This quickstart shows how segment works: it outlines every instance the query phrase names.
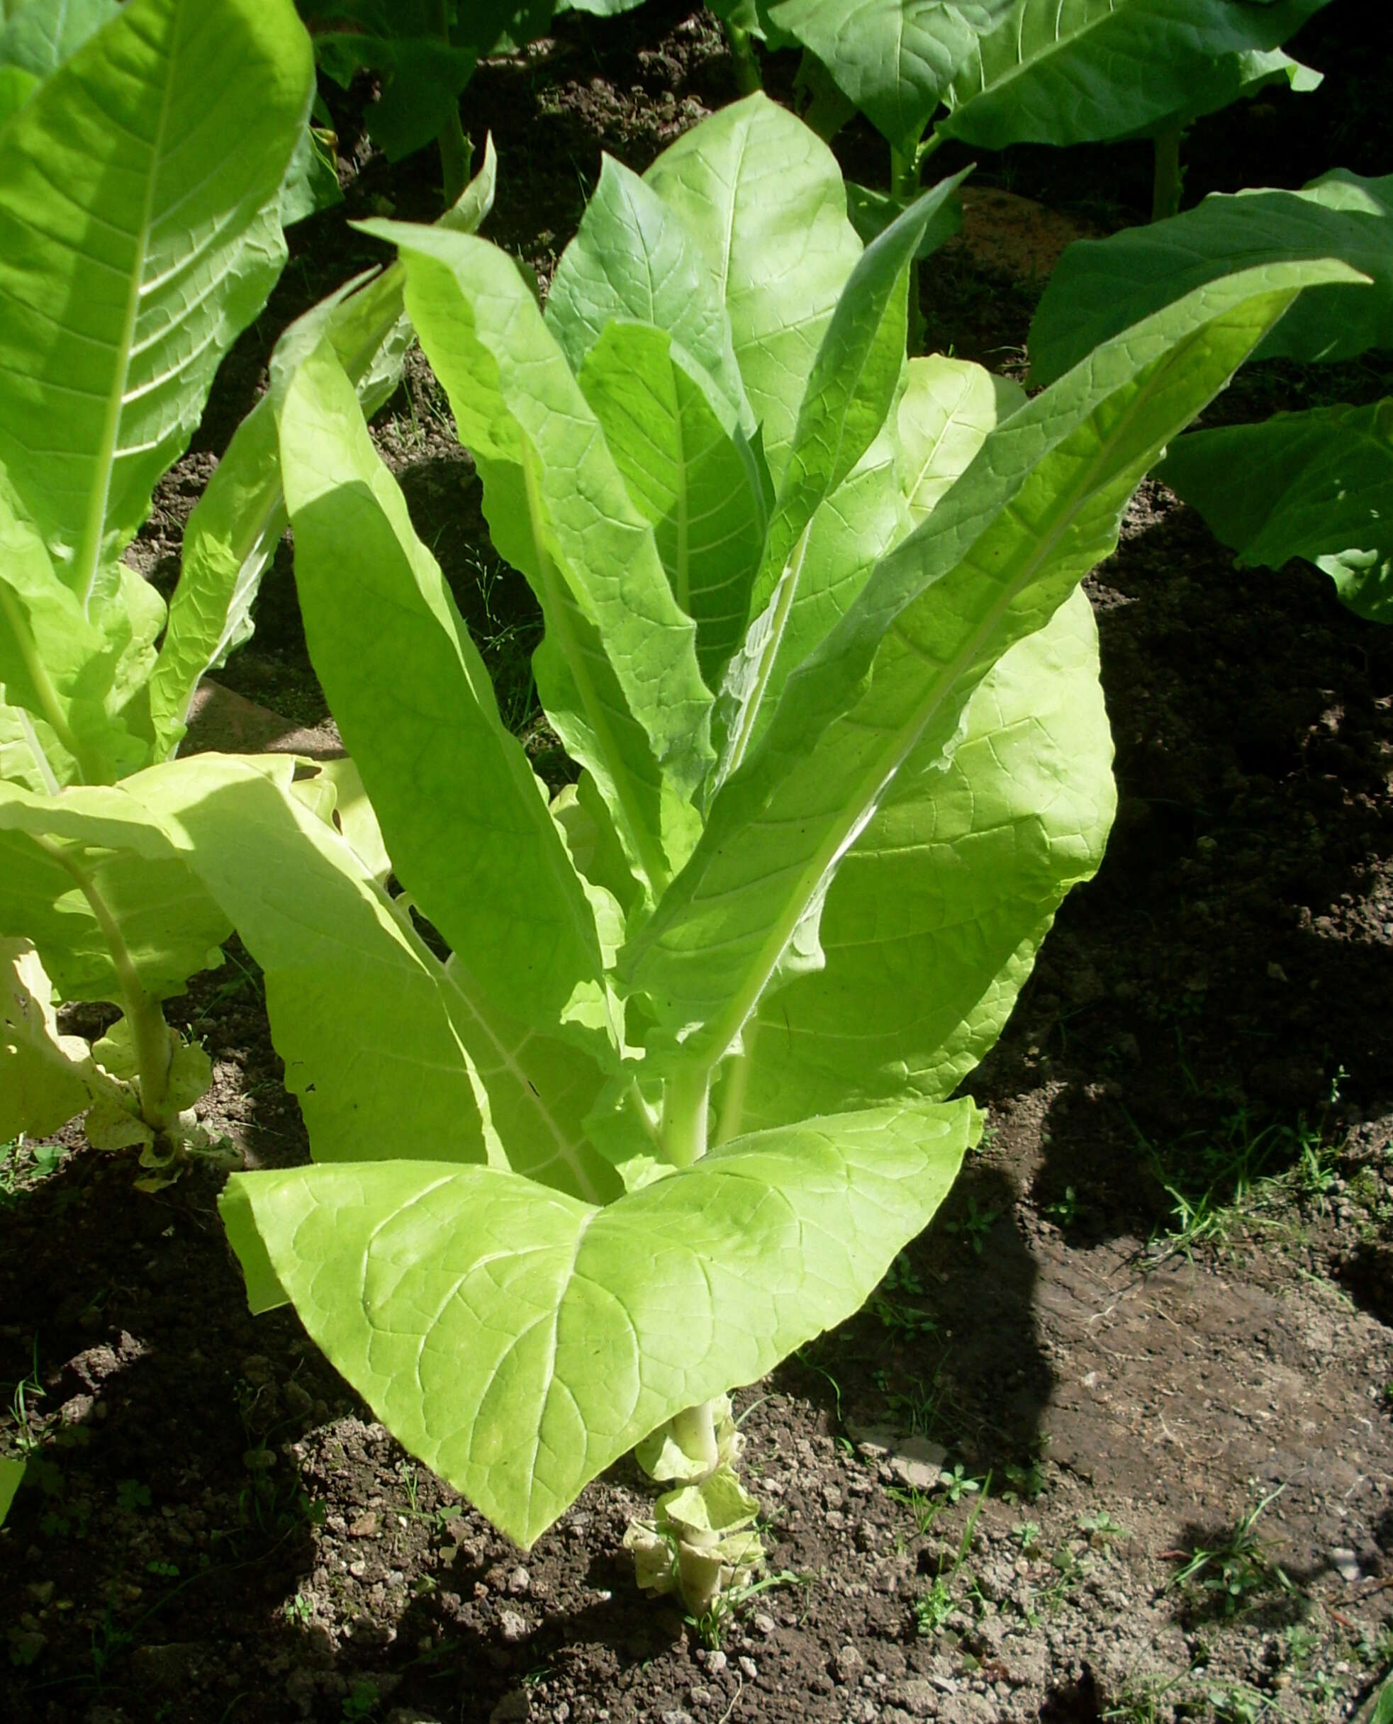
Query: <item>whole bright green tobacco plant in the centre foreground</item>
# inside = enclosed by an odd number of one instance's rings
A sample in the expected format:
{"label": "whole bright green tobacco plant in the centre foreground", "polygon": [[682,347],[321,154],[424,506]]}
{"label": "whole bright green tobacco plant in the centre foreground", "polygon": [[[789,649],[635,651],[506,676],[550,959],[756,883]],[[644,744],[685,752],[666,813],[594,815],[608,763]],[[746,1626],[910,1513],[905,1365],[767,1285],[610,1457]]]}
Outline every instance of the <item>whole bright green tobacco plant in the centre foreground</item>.
{"label": "whole bright green tobacco plant in the centre foreground", "polygon": [[[238,1174],[252,1303],[531,1545],[638,1445],[693,1608],[759,1560],[724,1396],[850,1315],[978,1136],[950,1100],[1112,745],[1083,576],[1303,284],[1215,281],[1031,402],[905,362],[952,186],[862,250],[752,97],[605,164],[545,315],[503,252],[372,222],[541,605],[552,793],[317,347],[279,402],[309,648],[371,807],[291,760],[122,784],[265,972],[314,1165]],[[441,955],[448,953],[448,955]]]}

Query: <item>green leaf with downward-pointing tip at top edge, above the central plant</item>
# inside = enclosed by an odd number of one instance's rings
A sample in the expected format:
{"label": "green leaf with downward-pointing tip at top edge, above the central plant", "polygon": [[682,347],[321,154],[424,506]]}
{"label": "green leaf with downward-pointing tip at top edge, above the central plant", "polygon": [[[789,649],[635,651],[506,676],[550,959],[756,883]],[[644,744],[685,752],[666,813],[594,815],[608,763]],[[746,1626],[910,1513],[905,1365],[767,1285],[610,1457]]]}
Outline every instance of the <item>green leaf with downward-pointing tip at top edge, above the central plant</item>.
{"label": "green leaf with downward-pointing tip at top edge, above the central plant", "polygon": [[781,29],[828,67],[893,150],[912,155],[959,67],[1012,0],[783,0]]}

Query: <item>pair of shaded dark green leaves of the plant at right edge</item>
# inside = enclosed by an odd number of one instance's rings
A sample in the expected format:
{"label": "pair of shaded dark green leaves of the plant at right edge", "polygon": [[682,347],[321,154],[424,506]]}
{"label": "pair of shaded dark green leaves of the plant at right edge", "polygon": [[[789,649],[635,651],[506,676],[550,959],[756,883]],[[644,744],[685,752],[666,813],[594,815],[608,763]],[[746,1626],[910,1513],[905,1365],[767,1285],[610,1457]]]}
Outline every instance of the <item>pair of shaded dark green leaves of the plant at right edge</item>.
{"label": "pair of shaded dark green leaves of the plant at right edge", "polygon": [[[1210,197],[1174,221],[1071,247],[1031,328],[1036,381],[1202,281],[1234,269],[1341,257],[1372,283],[1302,297],[1259,359],[1321,364],[1393,347],[1393,178],[1336,169],[1303,191]],[[1157,467],[1245,565],[1305,557],[1341,600],[1393,622],[1393,397],[1191,431]]]}

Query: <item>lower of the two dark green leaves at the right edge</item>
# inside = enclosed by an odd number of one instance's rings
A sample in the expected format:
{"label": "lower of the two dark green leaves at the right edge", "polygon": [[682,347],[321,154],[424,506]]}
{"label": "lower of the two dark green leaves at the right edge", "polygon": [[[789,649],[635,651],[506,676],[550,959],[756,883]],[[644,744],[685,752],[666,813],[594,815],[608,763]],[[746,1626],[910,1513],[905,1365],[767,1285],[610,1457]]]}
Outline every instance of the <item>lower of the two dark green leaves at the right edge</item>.
{"label": "lower of the two dark green leaves at the right edge", "polygon": [[1157,476],[1241,565],[1305,557],[1352,610],[1393,622],[1393,400],[1195,431]]}

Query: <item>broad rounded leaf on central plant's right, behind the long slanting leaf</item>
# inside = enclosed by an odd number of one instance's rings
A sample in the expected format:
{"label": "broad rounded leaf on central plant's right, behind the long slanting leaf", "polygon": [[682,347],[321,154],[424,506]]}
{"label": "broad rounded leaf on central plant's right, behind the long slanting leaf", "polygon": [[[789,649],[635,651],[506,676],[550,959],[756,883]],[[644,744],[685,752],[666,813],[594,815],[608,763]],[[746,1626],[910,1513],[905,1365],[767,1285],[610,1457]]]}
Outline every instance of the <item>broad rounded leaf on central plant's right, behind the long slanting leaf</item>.
{"label": "broad rounded leaf on central plant's right, behind the long slanting leaf", "polygon": [[731,1069],[741,1129],[950,1095],[1002,1033],[1114,812],[1098,634],[1083,593],[978,688],[945,767],[910,753],[838,869],[826,969],[765,998]]}

